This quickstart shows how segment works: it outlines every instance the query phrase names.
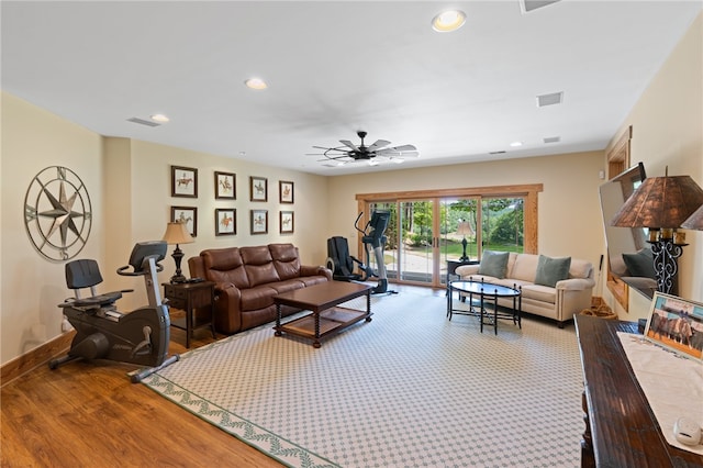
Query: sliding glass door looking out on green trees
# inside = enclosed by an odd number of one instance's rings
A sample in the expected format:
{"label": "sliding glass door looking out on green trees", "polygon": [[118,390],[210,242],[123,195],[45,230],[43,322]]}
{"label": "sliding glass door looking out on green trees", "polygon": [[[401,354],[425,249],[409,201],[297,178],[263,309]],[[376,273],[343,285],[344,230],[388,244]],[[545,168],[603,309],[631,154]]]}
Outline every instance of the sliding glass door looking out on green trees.
{"label": "sliding glass door looking out on green trees", "polygon": [[[478,261],[486,249],[529,252],[536,246],[536,219],[525,223],[525,205],[535,207],[536,197],[469,194],[420,199],[367,201],[360,207],[369,220],[375,210],[391,213],[386,230],[383,263],[390,282],[442,287],[448,263]],[[526,236],[525,226],[528,226]],[[364,248],[362,245],[360,245]],[[373,253],[364,261],[379,271]]]}

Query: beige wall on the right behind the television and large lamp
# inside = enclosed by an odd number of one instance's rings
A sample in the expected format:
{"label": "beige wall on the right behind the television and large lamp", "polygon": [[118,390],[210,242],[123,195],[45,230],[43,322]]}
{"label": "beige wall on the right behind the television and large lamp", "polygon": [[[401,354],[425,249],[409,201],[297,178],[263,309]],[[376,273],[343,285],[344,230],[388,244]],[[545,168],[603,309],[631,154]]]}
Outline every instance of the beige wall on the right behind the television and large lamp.
{"label": "beige wall on the right behind the television and large lamp", "polygon": [[[688,175],[703,187],[703,13],[614,137],[628,125],[633,125],[632,163],[641,160],[647,176],[663,177],[668,167],[670,176]],[[703,302],[703,232],[687,231],[687,242],[679,263],[679,296]],[[649,300],[633,291],[629,298],[629,312],[617,308],[621,319],[647,316]]]}

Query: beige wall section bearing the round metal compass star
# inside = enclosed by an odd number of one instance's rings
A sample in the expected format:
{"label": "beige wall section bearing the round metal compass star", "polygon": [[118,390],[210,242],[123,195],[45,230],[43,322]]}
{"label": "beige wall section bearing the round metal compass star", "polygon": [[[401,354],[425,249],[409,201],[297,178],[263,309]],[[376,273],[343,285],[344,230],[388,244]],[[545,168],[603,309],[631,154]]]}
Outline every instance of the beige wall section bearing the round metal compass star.
{"label": "beige wall section bearing the round metal compass star", "polygon": [[1,358],[26,353],[60,333],[56,307],[66,297],[64,263],[40,256],[24,227],[24,196],[47,166],[65,166],[83,181],[93,210],[90,242],[81,257],[101,258],[101,137],[10,94],[2,94]]}

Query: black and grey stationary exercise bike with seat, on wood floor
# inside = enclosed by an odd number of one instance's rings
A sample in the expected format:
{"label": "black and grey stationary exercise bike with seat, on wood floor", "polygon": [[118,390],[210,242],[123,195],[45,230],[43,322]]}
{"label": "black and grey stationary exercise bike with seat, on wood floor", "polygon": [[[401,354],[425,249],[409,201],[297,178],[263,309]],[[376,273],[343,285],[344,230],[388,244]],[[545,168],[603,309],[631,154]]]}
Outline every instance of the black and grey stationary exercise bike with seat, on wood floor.
{"label": "black and grey stationary exercise bike with seat, on wood floor", "polygon": [[[51,369],[76,359],[108,359],[148,366],[131,372],[132,382],[177,361],[178,355],[167,358],[170,339],[168,307],[161,302],[157,272],[164,267],[158,263],[166,255],[164,241],[137,243],[132,249],[129,265],[120,267],[118,275],[143,276],[149,304],[130,313],[116,310],[114,302],[123,292],[96,294],[96,285],[102,282],[98,263],[91,259],[66,264],[66,286],[76,297],[58,304],[76,328],[68,354],[48,363]],[[132,268],[131,271],[129,269]],[[81,288],[90,288],[91,297],[81,299]]]}

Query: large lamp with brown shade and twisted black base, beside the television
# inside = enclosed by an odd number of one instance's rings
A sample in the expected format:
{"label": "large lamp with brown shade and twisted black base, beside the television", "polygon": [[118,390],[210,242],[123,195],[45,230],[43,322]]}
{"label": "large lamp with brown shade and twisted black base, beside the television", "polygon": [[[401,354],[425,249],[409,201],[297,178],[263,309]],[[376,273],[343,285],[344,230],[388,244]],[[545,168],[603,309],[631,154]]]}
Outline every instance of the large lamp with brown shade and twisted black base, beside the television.
{"label": "large lamp with brown shade and twisted black base, beside the television", "polygon": [[[647,227],[655,256],[657,289],[670,293],[678,272],[678,258],[685,246],[689,216],[703,204],[703,189],[689,176],[648,177],[615,213],[612,226]],[[699,210],[700,211],[700,210]]]}

